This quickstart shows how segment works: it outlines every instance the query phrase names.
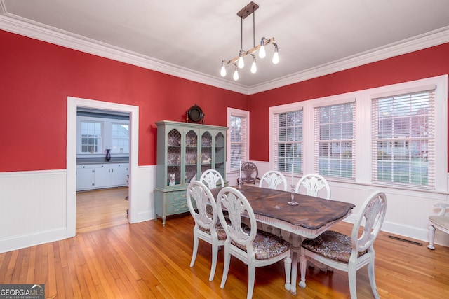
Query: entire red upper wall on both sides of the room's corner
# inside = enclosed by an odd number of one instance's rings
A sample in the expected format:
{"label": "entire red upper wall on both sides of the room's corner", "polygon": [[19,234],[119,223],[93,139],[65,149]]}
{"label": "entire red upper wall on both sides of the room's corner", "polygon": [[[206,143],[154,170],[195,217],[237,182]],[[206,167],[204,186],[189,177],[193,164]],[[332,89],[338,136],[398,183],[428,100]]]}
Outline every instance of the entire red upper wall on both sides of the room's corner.
{"label": "entire red upper wall on both sides of the room's corner", "polygon": [[256,95],[214,88],[0,30],[0,172],[65,169],[67,97],[139,106],[139,165],[156,163],[157,120],[198,104],[209,125],[250,111],[250,160],[269,159],[269,107],[449,74],[449,43]]}

